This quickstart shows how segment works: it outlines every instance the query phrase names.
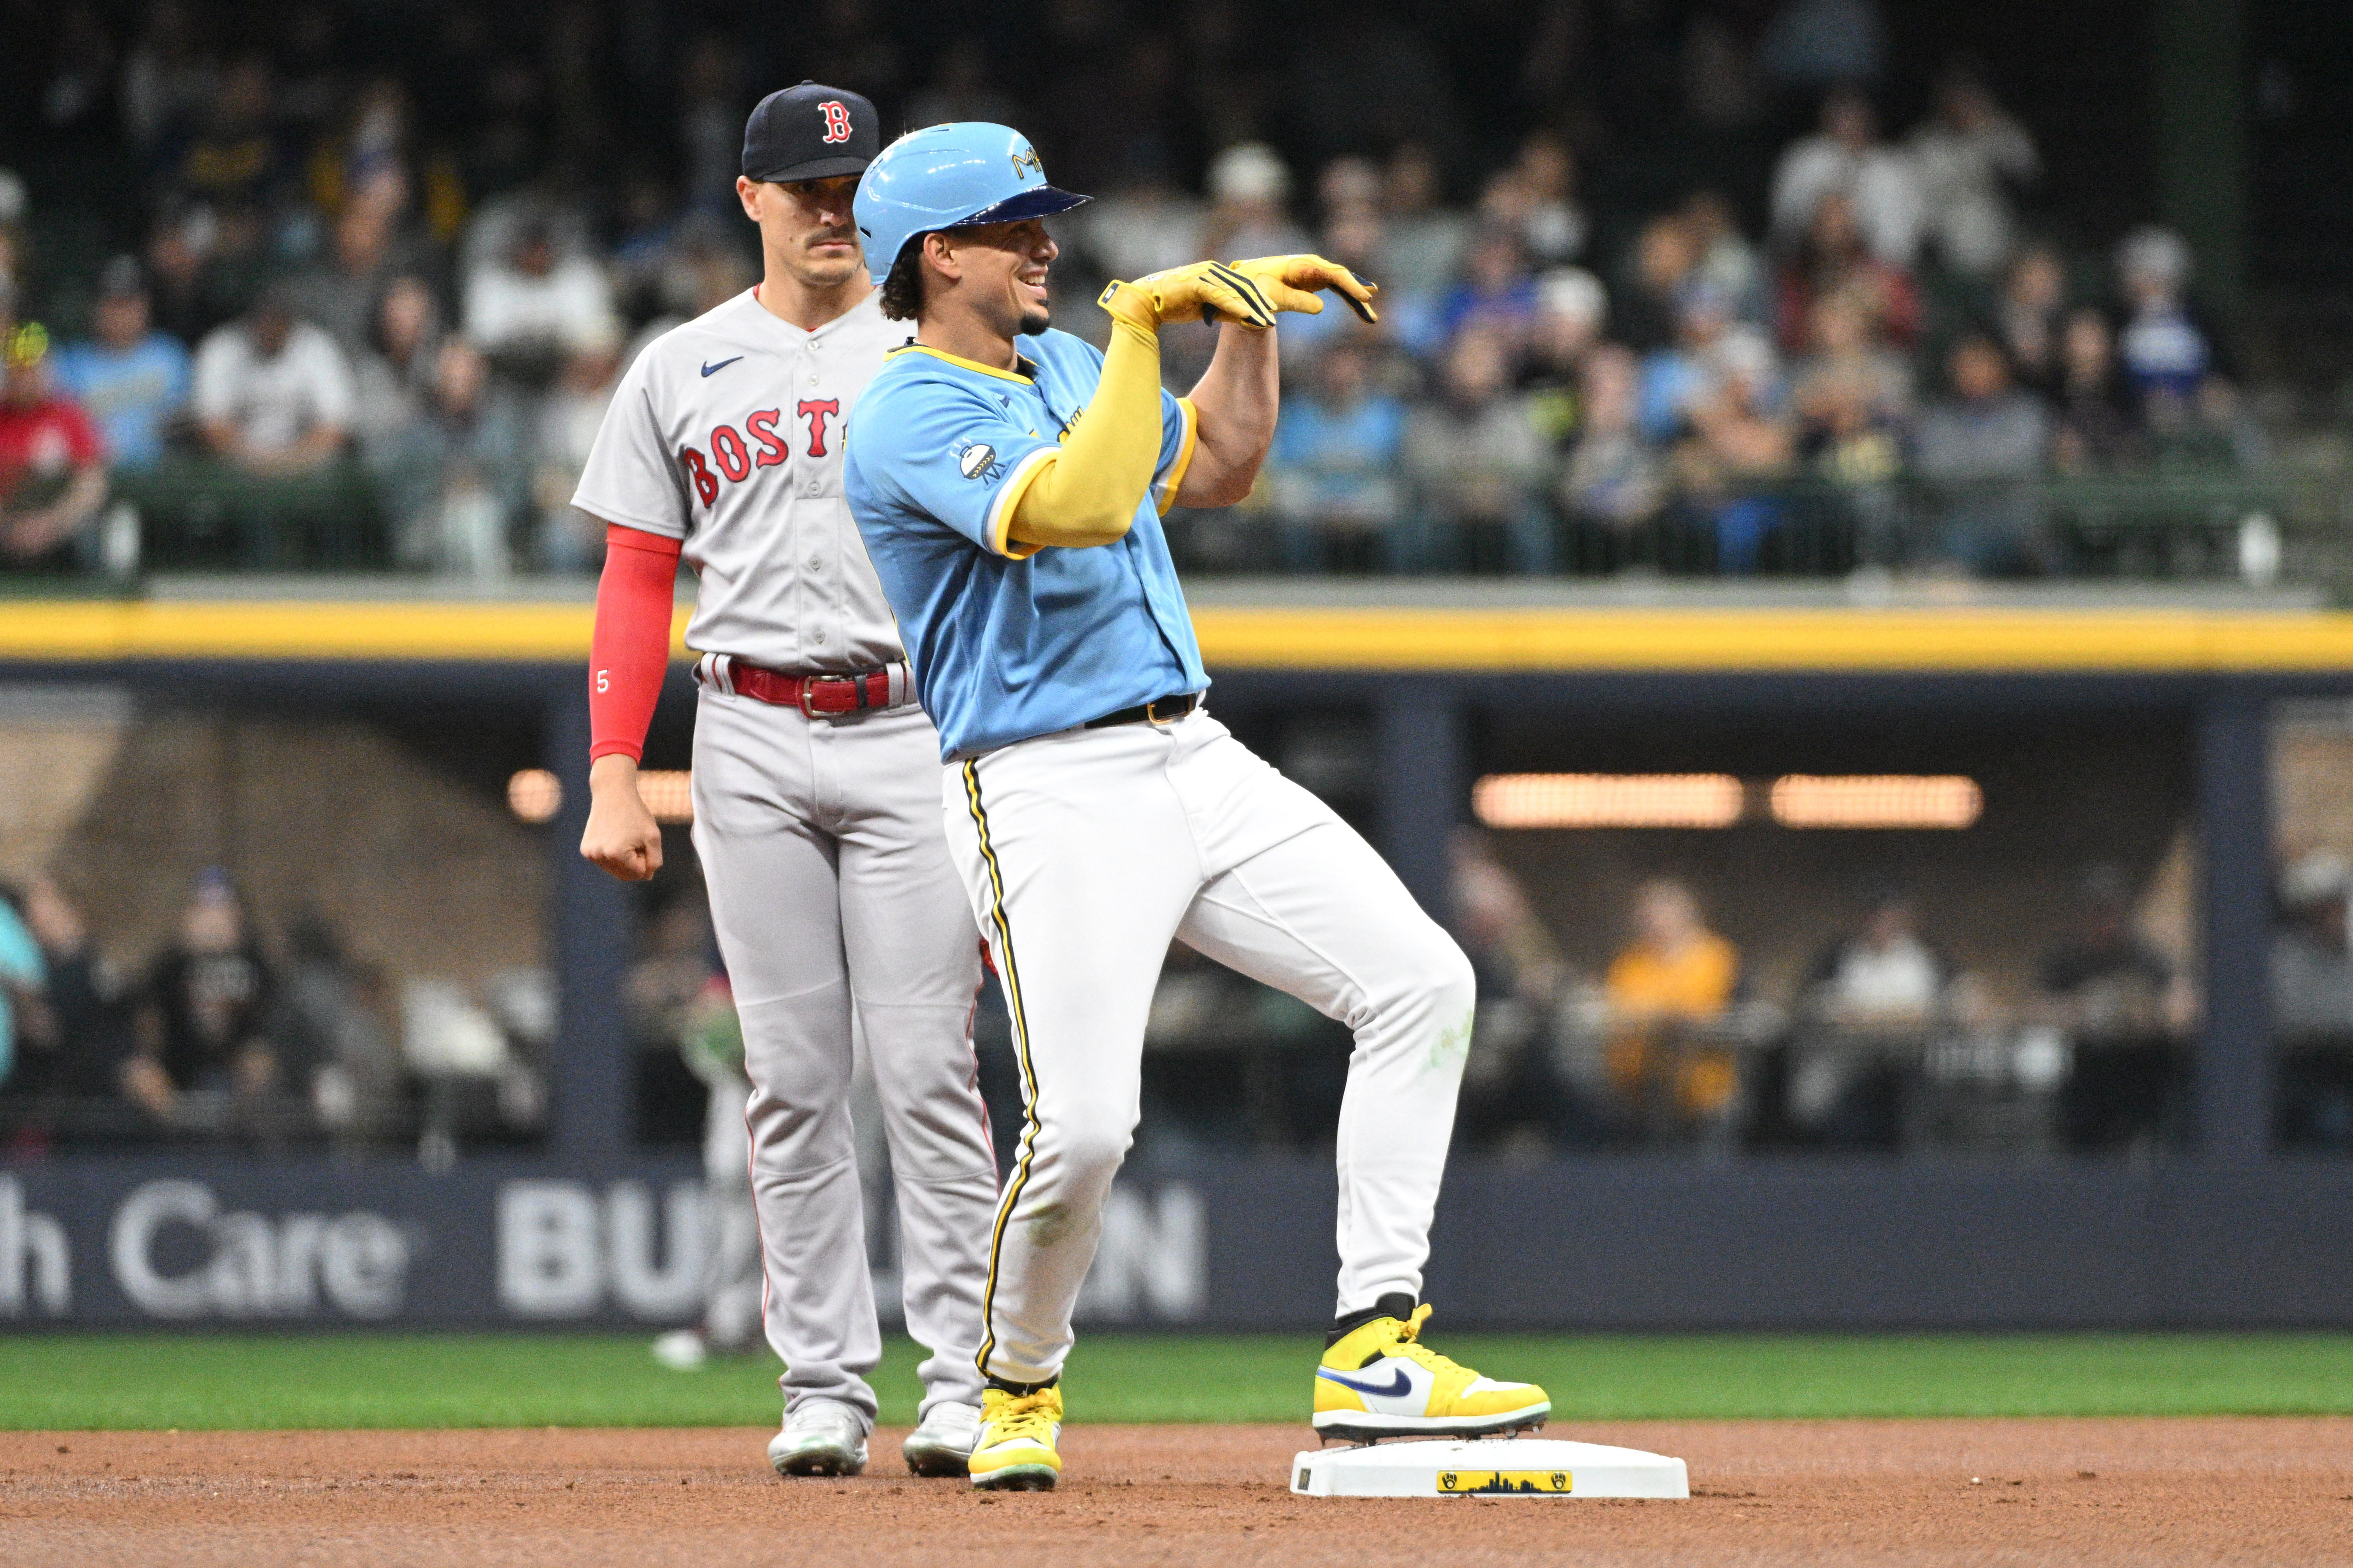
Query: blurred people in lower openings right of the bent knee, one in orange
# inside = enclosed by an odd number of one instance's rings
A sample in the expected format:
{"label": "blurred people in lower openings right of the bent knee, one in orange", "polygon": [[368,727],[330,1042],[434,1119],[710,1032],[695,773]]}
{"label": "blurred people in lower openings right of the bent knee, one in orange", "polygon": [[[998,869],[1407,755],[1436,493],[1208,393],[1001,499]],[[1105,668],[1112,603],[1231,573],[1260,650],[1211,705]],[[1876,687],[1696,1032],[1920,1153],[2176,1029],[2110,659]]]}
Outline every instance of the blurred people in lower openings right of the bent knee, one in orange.
{"label": "blurred people in lower openings right of the bent knee, one in orange", "polygon": [[[2353,869],[2280,883],[2273,982],[2282,1140],[2353,1149]],[[1562,963],[1492,845],[1454,857],[1457,932],[1480,972],[1464,1121],[1489,1147],[1880,1149],[2047,1156],[2179,1144],[2188,975],[2134,930],[2113,866],[2028,975],[1972,975],[1915,895],[1866,890],[1784,996],[1675,878],[1638,888],[1598,975]],[[1929,911],[1929,918],[1934,911]]]}

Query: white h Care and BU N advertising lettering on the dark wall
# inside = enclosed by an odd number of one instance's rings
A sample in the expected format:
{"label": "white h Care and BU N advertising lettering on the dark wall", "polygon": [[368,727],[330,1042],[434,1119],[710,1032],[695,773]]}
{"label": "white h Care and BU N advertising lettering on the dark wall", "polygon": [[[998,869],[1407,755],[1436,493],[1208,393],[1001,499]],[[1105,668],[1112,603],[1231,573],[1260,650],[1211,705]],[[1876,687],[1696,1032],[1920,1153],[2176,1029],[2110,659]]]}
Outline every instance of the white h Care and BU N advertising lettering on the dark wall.
{"label": "white h Care and BU N advertising lettering on the dark wall", "polygon": [[[892,1212],[887,1189],[868,1212]],[[1082,1316],[1202,1321],[1205,1215],[1186,1182],[1120,1187]],[[0,1175],[0,1326],[682,1323],[701,1309],[708,1234],[701,1180],[678,1161],[40,1165]],[[894,1311],[894,1236],[871,1253]]]}

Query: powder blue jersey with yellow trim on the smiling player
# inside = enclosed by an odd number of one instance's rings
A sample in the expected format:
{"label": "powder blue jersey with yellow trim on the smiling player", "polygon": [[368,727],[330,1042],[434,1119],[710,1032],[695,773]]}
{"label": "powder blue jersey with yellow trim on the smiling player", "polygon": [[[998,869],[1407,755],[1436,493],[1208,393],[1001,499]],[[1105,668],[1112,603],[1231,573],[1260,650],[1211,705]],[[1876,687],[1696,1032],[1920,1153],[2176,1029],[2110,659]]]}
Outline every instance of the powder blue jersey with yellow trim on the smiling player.
{"label": "powder blue jersey with yellow trim on the smiling player", "polygon": [[894,348],[849,419],[849,516],[944,760],[1209,685],[1160,532],[1193,405],[1160,393],[1160,464],[1125,539],[1038,551],[1007,539],[1014,504],[1094,398],[1104,356],[1068,332],[1014,348],[1019,374]]}

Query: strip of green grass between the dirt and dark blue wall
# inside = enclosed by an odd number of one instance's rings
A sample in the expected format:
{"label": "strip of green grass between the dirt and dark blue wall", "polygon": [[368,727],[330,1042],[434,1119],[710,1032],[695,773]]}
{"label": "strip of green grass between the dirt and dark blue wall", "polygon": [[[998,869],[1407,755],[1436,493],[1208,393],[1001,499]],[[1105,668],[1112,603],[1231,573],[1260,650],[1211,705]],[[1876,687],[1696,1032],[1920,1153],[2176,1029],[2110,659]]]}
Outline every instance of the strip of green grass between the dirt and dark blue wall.
{"label": "strip of green grass between the dirt and dark blue wall", "polygon": [[[1449,1335],[1553,1394],[1555,1420],[2348,1415],[2353,1335]],[[1087,1335],[1073,1420],[1297,1422],[1311,1337]],[[915,1403],[915,1349],[875,1377]],[[0,1427],[699,1427],[776,1420],[762,1358],[668,1373],[612,1335],[61,1335],[0,1340]]]}

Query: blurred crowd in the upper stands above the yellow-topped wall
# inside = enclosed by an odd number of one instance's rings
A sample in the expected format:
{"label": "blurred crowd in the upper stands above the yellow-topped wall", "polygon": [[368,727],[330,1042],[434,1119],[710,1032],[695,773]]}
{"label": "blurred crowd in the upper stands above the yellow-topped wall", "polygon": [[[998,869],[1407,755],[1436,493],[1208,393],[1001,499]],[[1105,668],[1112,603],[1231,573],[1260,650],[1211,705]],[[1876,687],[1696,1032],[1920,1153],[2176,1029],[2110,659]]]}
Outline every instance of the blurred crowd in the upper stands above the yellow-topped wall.
{"label": "blurred crowd in the upper stands above the yellow-topped wall", "polygon": [[[1739,59],[1701,16],[1689,113],[1765,73],[1819,127],[1760,191],[1727,170],[1640,212],[1588,205],[1574,125],[1541,115],[1492,167],[1372,111],[1372,146],[1285,155],[1266,80],[1179,92],[1165,33],[1096,28],[1085,89],[1014,99],[974,40],[918,75],[864,7],[821,9],[795,71],[906,125],[1033,127],[1056,179],[1099,195],[1059,228],[1061,325],[1099,330],[1101,278],[1207,254],[1320,250],[1381,283],[1377,327],[1285,323],[1266,478],[1176,523],[1195,567],[2028,574],[2080,565],[2047,476],[2259,461],[2179,235],[2042,238],[2021,217],[2042,148],[1969,66],[1885,137],[1854,85],[1882,54],[1854,42],[1878,35],[1861,0],[1791,0]],[[1198,9],[1205,38],[1231,21]],[[136,233],[87,273],[40,271],[40,214],[0,172],[0,556],[127,570],[144,537],[148,565],[593,570],[567,506],[586,445],[652,334],[753,283],[734,148],[776,82],[687,42],[656,85],[675,146],[631,158],[576,59],[595,7],[558,7],[539,54],[431,12],[391,66],[339,49],[318,7],[238,45],[184,0],[120,33],[73,14],[40,101],[122,148]],[[1421,45],[1384,28],[1379,59],[1414,78]],[[1172,344],[1172,381],[1205,351]]]}

